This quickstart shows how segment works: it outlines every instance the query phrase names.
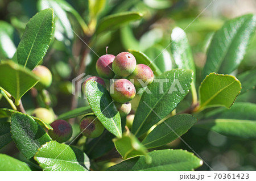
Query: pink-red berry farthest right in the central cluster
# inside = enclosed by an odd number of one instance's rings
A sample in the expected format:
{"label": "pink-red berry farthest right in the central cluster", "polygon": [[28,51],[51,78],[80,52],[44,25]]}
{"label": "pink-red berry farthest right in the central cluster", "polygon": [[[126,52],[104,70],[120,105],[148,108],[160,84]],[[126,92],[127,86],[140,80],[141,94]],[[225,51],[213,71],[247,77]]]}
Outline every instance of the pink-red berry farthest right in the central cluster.
{"label": "pink-red berry farthest right in the central cluster", "polygon": [[[134,86],[139,89],[150,85],[154,80],[154,73],[149,66],[144,64],[136,65],[134,72],[127,77],[130,81],[134,80]],[[139,82],[140,81],[140,82]]]}

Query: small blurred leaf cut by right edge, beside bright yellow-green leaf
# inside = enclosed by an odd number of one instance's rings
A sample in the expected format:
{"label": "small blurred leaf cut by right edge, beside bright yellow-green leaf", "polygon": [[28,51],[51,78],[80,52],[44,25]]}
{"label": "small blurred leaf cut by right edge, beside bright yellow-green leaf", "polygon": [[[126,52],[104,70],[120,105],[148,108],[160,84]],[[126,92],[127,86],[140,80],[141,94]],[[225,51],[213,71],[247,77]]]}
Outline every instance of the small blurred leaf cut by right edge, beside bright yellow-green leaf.
{"label": "small blurred leaf cut by right edge, beside bright yellow-green leaf", "polygon": [[240,82],[242,84],[241,94],[243,94],[251,89],[255,89],[255,87],[256,87],[255,77],[256,77],[256,69],[246,71],[240,75],[237,75],[238,80],[240,80]]}

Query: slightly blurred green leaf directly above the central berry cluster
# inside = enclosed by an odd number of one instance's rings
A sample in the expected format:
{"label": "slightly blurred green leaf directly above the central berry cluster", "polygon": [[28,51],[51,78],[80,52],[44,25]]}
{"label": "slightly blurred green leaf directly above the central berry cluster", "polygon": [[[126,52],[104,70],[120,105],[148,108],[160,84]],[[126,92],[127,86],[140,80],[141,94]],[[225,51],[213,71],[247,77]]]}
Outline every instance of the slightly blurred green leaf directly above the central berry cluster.
{"label": "slightly blurred green leaf directly above the central berry cluster", "polygon": [[141,19],[143,14],[141,12],[121,12],[103,18],[97,27],[97,33],[104,31],[111,31],[119,28],[123,24],[134,20]]}

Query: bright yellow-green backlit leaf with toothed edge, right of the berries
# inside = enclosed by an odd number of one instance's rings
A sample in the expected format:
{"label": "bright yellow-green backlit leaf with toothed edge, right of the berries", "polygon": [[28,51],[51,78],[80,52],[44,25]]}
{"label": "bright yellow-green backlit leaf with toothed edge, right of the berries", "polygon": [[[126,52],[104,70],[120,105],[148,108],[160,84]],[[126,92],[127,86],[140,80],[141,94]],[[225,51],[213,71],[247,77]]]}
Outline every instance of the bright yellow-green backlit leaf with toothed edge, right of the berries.
{"label": "bright yellow-green backlit leaf with toothed edge, right of the berries", "polygon": [[241,89],[241,83],[236,77],[210,73],[199,87],[199,110],[216,106],[230,108]]}

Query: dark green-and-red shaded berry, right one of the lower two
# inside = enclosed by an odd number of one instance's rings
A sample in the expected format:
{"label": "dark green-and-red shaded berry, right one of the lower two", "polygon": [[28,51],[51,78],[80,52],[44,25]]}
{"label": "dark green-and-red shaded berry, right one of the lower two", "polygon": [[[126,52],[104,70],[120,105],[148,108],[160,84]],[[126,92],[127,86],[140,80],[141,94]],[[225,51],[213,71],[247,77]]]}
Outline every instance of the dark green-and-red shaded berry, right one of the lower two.
{"label": "dark green-and-red shaded berry, right one of the lower two", "polygon": [[88,138],[96,138],[100,136],[104,131],[104,126],[94,115],[84,116],[80,123],[80,131]]}

